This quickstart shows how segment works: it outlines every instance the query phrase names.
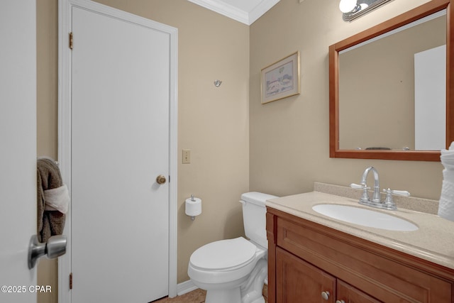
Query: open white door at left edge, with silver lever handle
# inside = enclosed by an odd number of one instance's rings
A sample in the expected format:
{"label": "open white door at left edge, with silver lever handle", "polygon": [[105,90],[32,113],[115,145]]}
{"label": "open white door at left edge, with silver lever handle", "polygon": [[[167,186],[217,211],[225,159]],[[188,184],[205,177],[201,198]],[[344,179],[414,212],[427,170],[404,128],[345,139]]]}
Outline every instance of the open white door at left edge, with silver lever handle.
{"label": "open white door at left edge, with silver lever handle", "polygon": [[36,302],[35,0],[0,4],[0,302]]}

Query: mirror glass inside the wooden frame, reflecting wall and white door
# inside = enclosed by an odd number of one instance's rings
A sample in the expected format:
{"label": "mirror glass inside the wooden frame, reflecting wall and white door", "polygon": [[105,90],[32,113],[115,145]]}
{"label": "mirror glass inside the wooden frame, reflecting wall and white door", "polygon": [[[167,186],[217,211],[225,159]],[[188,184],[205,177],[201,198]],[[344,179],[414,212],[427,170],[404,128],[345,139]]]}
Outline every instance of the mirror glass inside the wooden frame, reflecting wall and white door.
{"label": "mirror glass inside the wooden frame, reflecting wall and white door", "polygon": [[339,52],[339,148],[445,148],[445,44],[443,10]]}

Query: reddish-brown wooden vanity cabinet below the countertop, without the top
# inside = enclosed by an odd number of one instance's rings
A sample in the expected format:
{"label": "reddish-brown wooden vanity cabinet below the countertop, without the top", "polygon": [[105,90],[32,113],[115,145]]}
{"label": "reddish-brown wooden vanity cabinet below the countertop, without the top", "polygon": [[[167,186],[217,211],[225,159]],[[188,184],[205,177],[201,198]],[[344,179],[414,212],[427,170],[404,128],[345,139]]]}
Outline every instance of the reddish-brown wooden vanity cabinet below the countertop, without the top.
{"label": "reddish-brown wooden vanity cabinet below the countertop, without the top", "polygon": [[267,236],[269,303],[454,303],[450,268],[272,208]]}

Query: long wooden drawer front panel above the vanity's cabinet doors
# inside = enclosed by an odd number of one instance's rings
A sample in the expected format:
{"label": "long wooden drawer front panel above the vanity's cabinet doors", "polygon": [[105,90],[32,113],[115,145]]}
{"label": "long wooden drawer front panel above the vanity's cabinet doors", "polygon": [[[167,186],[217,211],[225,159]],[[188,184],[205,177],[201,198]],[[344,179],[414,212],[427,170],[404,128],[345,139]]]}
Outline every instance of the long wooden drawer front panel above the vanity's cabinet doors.
{"label": "long wooden drawer front panel above the vanity's cabinet doors", "polygon": [[415,267],[414,260],[405,264],[402,254],[393,258],[389,248],[303,219],[278,217],[276,223],[277,246],[382,302],[453,302],[452,282]]}

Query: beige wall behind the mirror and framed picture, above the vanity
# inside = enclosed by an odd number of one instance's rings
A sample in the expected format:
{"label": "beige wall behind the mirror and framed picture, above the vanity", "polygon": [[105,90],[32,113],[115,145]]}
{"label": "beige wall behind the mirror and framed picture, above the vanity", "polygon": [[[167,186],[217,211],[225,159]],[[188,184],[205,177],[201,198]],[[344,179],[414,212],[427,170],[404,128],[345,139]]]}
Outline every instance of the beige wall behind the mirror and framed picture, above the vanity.
{"label": "beige wall behind the mirror and framed picture, above the vanity", "polygon": [[[288,195],[310,191],[314,181],[347,186],[373,165],[382,187],[439,199],[440,162],[335,159],[328,150],[328,46],[423,3],[392,1],[346,23],[337,0],[281,0],[250,26],[250,190]],[[296,50],[301,94],[260,104],[260,70]]]}

